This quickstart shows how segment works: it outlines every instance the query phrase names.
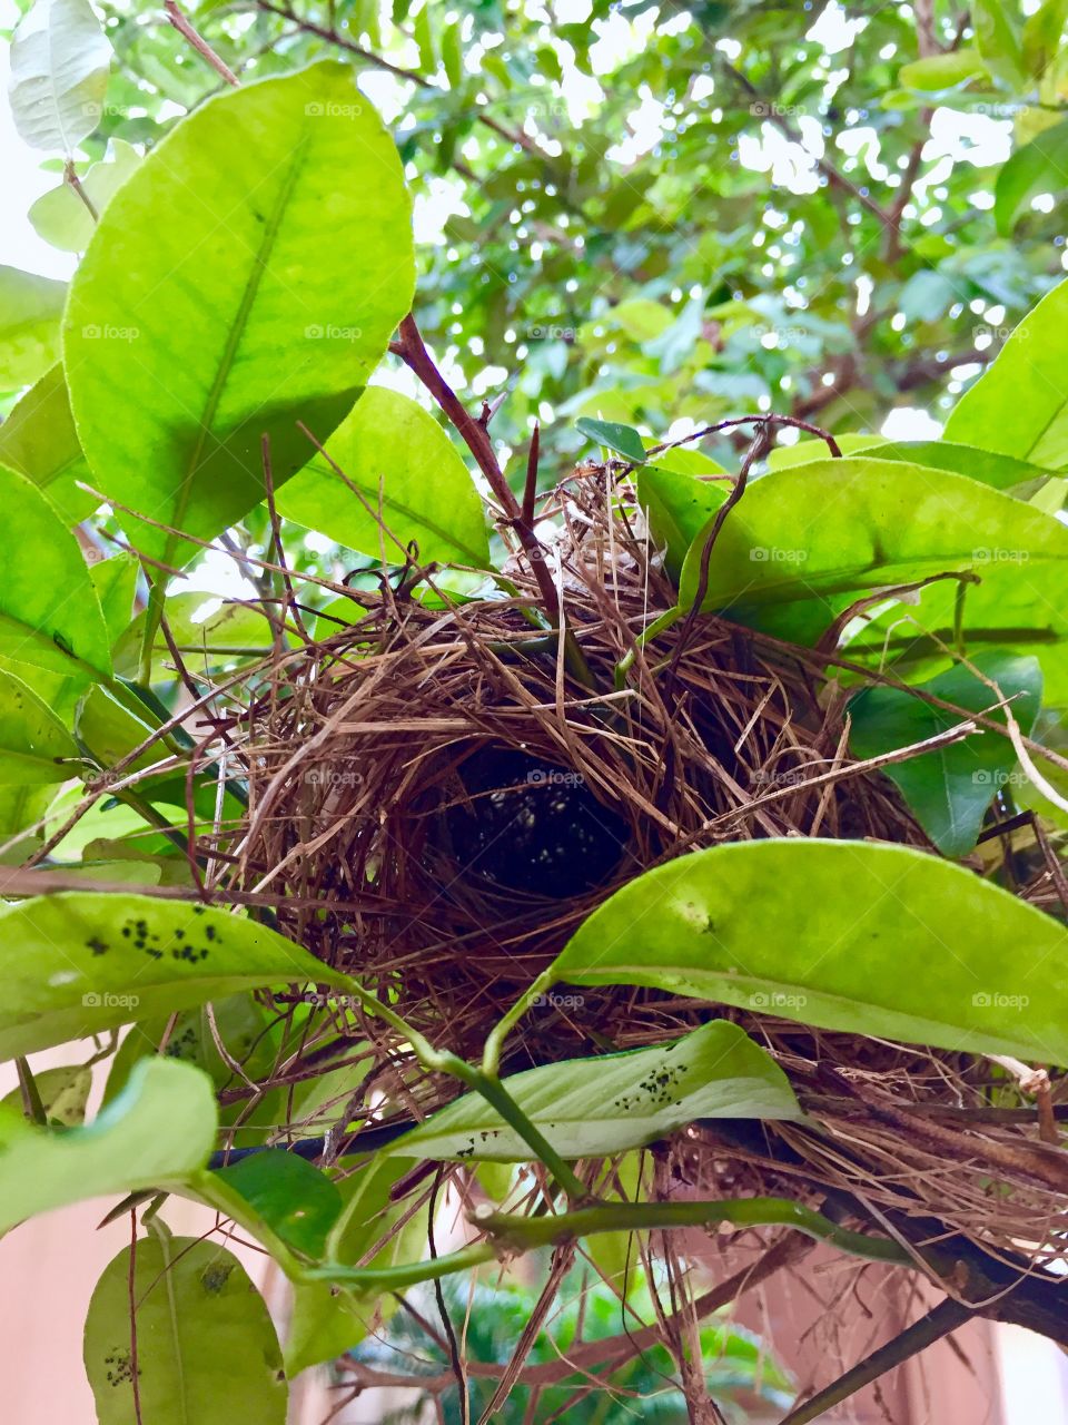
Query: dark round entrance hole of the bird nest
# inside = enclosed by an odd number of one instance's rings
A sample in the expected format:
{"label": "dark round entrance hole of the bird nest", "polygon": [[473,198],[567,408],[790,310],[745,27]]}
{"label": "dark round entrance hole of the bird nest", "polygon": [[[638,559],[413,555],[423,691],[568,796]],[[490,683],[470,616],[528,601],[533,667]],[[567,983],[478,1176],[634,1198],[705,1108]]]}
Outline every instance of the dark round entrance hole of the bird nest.
{"label": "dark round entrance hole of the bird nest", "polygon": [[461,874],[562,901],[618,869],[629,826],[580,772],[491,742],[454,779],[459,795],[441,808],[439,839]]}

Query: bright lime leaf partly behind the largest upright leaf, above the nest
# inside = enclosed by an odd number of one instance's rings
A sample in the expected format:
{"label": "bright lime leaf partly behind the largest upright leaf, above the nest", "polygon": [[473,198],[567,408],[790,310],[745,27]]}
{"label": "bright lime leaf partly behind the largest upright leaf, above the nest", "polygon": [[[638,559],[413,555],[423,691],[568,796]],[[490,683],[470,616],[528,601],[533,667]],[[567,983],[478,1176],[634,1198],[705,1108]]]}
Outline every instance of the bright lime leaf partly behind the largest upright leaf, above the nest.
{"label": "bright lime leaf partly behind the largest upright leaf, above the nest", "polygon": [[409,540],[423,561],[488,563],[486,514],[467,466],[409,396],[369,386],[326,452],[359,494],[319,456],[278,494],[288,520],[393,564],[404,561]]}

